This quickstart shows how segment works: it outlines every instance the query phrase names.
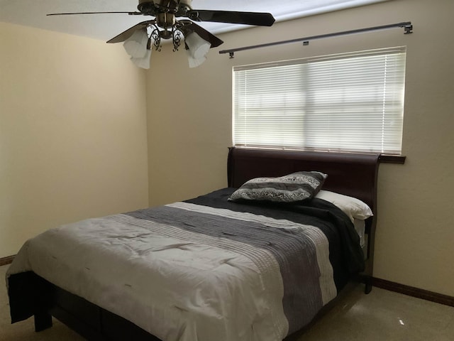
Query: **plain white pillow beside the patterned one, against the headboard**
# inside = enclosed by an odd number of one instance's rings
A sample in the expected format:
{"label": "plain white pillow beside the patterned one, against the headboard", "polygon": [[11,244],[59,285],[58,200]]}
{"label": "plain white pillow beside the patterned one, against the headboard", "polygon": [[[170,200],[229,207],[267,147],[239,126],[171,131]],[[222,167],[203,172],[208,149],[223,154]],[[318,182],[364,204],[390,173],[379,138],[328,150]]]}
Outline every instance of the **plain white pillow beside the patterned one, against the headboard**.
{"label": "plain white pillow beside the patterned one, against the headboard", "polygon": [[355,197],[330,192],[329,190],[320,190],[315,197],[329,201],[339,207],[352,222],[354,219],[365,220],[373,215],[370,207]]}

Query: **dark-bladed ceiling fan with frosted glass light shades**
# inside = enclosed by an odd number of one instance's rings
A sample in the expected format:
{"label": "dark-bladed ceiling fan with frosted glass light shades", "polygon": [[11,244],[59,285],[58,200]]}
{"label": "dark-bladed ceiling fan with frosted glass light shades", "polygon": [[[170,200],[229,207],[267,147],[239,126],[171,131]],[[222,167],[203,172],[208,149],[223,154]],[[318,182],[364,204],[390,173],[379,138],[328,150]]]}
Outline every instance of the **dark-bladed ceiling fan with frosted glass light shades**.
{"label": "dark-bladed ceiling fan with frosted glass light shades", "polygon": [[48,16],[98,13],[154,16],[155,18],[138,23],[107,41],[107,43],[125,42],[123,45],[128,54],[131,55],[131,60],[143,68],[148,68],[150,64],[152,38],[155,50],[161,49],[161,39],[172,39],[175,51],[178,50],[182,36],[184,36],[189,66],[195,67],[203,63],[206,60],[205,55],[209,48],[216,48],[223,41],[194,21],[239,23],[255,26],[272,26],[275,22],[271,13],[192,9],[192,0],[139,0],[137,9],[138,11],[131,12],[51,13]]}

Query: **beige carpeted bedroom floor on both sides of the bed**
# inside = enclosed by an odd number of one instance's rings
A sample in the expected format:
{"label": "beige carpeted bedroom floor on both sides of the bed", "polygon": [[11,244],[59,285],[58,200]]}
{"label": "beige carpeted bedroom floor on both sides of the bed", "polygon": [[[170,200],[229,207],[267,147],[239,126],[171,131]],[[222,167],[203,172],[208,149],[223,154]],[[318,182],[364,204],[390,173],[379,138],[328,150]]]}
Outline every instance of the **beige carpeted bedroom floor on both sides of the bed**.
{"label": "beige carpeted bedroom floor on both sides of the bed", "polygon": [[[8,266],[0,266],[0,278]],[[295,341],[452,341],[454,308],[380,288],[362,293],[354,288]],[[58,321],[34,332],[33,318],[10,324],[4,281],[0,284],[0,341],[84,340]]]}

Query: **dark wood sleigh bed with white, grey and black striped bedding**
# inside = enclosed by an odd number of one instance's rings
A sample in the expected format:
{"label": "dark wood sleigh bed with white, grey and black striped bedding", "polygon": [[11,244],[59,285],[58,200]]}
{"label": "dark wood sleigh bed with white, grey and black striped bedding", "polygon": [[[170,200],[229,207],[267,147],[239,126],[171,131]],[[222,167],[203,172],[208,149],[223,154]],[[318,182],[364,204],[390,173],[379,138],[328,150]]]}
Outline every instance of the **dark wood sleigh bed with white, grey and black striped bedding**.
{"label": "dark wood sleigh bed with white, grey and black striped bedding", "polygon": [[[291,337],[348,281],[372,288],[378,158],[230,148],[228,188],[51,229],[24,244],[7,273],[11,320],[34,316],[40,331],[54,316],[88,340]],[[328,175],[319,197],[229,200],[248,180],[301,171]],[[329,193],[370,208],[364,236]]]}

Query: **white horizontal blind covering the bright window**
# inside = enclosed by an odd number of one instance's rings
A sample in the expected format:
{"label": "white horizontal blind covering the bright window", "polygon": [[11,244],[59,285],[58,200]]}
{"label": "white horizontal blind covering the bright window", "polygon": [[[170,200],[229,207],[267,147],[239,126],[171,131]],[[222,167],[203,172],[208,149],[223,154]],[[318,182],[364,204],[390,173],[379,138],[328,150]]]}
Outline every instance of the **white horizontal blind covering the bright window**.
{"label": "white horizontal blind covering the bright window", "polygon": [[235,146],[399,154],[406,50],[233,67]]}

